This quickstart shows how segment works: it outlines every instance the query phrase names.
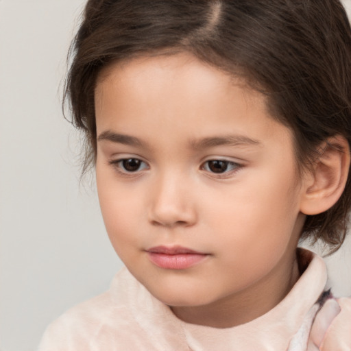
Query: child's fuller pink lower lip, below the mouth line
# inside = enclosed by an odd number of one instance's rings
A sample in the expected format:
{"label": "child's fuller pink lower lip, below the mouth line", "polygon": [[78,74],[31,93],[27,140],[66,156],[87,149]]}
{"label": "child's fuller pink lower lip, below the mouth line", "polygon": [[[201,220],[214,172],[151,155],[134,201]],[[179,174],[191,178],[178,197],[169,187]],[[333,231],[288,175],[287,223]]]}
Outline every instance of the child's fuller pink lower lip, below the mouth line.
{"label": "child's fuller pink lower lip, below the mouth line", "polygon": [[186,269],[197,265],[208,256],[206,254],[160,254],[148,252],[149,258],[156,266],[165,269]]}

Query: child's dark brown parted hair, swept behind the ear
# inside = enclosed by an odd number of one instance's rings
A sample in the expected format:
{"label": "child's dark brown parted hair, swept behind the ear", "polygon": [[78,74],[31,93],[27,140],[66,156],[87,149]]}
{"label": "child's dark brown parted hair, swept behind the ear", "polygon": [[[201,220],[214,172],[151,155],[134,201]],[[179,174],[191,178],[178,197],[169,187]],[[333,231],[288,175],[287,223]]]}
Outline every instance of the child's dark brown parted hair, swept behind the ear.
{"label": "child's dark brown parted hair, swept behind the ear", "polygon": [[[339,0],[88,0],[73,40],[64,101],[84,132],[83,173],[95,164],[101,69],[138,56],[189,52],[244,77],[271,117],[291,128],[298,168],[327,139],[351,143],[351,29]],[[350,176],[339,201],[307,216],[302,239],[336,251],[346,237]]]}

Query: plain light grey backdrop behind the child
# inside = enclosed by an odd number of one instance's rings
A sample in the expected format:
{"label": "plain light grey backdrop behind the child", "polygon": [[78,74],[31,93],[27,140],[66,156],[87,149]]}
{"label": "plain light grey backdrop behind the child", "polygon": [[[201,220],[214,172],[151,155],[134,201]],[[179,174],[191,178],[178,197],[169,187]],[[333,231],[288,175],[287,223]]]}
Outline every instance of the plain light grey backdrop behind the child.
{"label": "plain light grey backdrop behind the child", "polygon": [[[345,0],[351,12],[351,0]],[[108,289],[121,267],[80,138],[62,117],[66,52],[83,0],[0,0],[0,349],[36,350],[45,326]],[[351,295],[351,241],[328,258]]]}

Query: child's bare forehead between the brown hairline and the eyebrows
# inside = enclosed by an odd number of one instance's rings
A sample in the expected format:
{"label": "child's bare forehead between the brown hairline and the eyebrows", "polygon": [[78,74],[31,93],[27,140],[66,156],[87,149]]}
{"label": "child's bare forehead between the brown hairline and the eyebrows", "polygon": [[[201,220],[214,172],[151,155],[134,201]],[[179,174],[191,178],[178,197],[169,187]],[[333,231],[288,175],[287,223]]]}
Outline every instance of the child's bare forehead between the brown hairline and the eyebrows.
{"label": "child's bare forehead between the brown hairline and the eyebrows", "polygon": [[266,106],[245,80],[187,53],[115,63],[101,72],[95,90],[98,134],[114,128],[149,136],[178,130],[192,138],[268,138],[287,128]]}

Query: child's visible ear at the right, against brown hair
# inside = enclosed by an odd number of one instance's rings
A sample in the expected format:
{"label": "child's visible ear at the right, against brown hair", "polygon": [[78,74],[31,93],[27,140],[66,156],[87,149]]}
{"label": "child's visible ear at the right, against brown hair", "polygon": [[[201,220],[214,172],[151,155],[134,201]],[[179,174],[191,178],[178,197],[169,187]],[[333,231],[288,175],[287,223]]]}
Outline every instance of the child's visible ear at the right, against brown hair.
{"label": "child's visible ear at the right, against brown hair", "polygon": [[346,138],[332,136],[319,150],[320,156],[303,180],[300,211],[305,215],[317,215],[332,207],[348,180],[350,147]]}

